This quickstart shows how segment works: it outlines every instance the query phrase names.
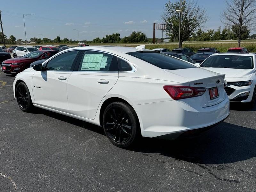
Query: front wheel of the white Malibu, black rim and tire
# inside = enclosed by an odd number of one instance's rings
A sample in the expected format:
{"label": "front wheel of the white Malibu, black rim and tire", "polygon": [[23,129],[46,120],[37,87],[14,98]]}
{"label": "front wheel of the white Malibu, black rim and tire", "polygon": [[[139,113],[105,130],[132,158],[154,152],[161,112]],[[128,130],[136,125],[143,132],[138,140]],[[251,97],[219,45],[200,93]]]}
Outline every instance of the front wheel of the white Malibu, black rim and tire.
{"label": "front wheel of the white Malibu, black rim and tire", "polygon": [[20,109],[24,112],[31,112],[34,105],[31,101],[31,96],[27,85],[24,82],[20,82],[15,89],[15,96]]}

